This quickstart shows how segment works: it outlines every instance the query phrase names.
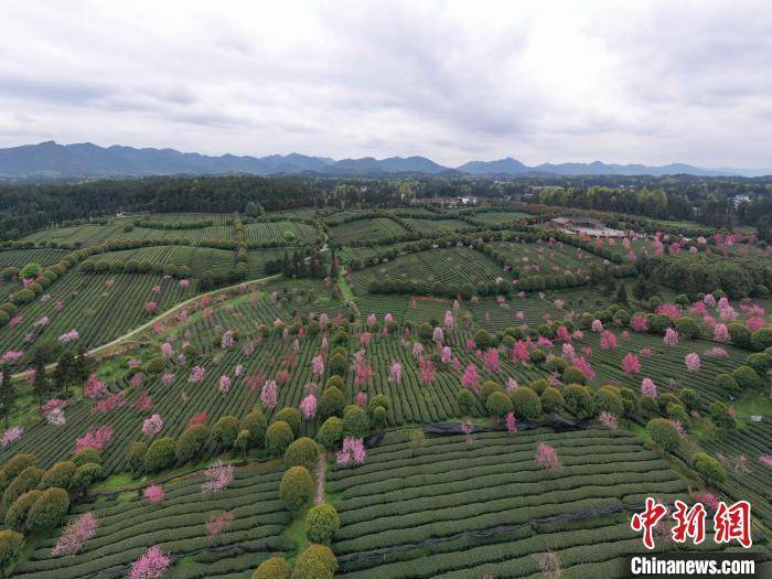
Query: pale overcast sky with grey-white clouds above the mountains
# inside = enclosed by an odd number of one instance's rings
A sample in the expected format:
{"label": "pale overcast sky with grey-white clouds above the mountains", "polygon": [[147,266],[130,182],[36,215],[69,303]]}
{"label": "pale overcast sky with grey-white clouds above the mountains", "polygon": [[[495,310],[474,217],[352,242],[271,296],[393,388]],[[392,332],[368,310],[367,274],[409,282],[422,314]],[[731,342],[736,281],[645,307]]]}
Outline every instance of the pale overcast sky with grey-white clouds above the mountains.
{"label": "pale overcast sky with grey-white clouds above the mountains", "polygon": [[772,167],[769,0],[0,9],[0,147]]}

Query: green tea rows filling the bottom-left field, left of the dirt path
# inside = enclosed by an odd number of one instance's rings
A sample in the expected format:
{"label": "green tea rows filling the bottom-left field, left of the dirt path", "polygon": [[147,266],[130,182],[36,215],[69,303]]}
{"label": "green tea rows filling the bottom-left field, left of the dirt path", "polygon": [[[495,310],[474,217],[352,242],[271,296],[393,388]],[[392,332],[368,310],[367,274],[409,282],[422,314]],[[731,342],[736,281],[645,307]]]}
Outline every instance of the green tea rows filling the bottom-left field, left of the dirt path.
{"label": "green tea rows filling the bottom-left field, left of the dirt path", "polygon": [[[293,548],[281,537],[289,513],[279,501],[282,470],[277,461],[237,469],[235,480],[218,493],[201,490],[204,478],[164,483],[165,497],[152,504],[140,491],[97,495],[73,511],[92,512],[98,522],[96,535],[77,555],[52,557],[54,539],[42,542],[14,577],[81,579],[122,577],[147,548],[159,546],[185,565],[174,569],[176,578],[248,577],[259,562]],[[206,532],[212,515],[228,512],[233,522],[216,537]]]}

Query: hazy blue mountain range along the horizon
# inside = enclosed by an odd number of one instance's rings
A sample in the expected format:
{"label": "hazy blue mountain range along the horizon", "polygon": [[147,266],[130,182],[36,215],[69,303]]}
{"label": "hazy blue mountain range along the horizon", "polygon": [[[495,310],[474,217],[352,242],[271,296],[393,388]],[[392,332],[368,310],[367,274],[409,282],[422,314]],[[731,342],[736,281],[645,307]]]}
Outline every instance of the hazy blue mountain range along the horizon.
{"label": "hazy blue mountain range along the horizon", "polygon": [[0,179],[89,179],[141,178],[150,175],[215,174],[320,174],[378,176],[386,174],[426,175],[666,175],[700,176],[772,174],[772,169],[705,169],[683,163],[661,167],[644,164],[543,163],[528,167],[516,159],[470,161],[457,168],[443,167],[426,157],[389,157],[334,160],[305,154],[211,157],[174,149],[99,147],[90,142],[58,144],[54,141],[0,149]]}

